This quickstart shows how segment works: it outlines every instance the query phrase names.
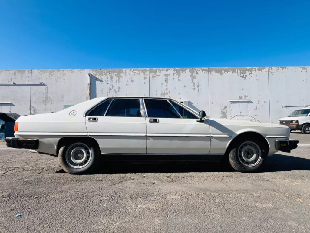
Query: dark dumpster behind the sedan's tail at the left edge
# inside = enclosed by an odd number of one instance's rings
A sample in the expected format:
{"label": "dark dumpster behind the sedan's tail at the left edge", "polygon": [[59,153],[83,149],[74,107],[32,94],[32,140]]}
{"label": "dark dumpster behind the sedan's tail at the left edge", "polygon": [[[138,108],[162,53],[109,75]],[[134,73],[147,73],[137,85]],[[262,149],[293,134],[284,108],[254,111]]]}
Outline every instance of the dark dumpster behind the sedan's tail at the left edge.
{"label": "dark dumpster behind the sedan's tail at the left edge", "polygon": [[0,112],[0,140],[14,137],[14,124],[18,117],[17,113]]}

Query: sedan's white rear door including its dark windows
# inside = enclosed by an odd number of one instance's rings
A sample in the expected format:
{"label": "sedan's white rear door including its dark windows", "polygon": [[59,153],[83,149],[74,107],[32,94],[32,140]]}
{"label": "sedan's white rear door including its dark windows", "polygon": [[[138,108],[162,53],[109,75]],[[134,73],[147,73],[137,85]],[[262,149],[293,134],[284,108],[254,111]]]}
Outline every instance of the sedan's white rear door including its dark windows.
{"label": "sedan's white rear door including its dark windows", "polygon": [[111,98],[86,116],[88,135],[97,140],[101,153],[146,153],[145,117],[140,98]]}

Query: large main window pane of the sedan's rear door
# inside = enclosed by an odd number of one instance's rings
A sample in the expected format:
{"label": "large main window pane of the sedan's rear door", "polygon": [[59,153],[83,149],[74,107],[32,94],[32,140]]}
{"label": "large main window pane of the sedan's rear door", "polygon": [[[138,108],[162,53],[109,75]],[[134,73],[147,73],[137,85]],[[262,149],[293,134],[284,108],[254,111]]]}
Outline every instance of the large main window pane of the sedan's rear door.
{"label": "large main window pane of the sedan's rear door", "polygon": [[142,117],[139,99],[114,99],[106,114],[108,117]]}

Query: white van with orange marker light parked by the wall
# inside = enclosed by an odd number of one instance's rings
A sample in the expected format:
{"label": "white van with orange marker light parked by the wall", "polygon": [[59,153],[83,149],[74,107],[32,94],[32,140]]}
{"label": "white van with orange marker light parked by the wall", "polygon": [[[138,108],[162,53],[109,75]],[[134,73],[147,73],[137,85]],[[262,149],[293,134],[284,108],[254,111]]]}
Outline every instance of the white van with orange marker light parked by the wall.
{"label": "white van with orange marker light parked by the wall", "polygon": [[297,109],[288,117],[281,118],[279,125],[286,125],[290,130],[301,130],[303,134],[310,134],[310,107]]}

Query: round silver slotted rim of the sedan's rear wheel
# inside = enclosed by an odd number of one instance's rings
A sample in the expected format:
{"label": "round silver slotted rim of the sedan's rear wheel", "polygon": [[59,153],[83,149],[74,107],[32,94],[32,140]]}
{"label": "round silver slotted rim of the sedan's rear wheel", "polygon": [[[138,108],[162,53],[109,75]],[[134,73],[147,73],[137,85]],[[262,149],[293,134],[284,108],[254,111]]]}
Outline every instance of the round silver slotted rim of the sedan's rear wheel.
{"label": "round silver slotted rim of the sedan's rear wheel", "polygon": [[70,167],[83,168],[91,160],[91,149],[84,143],[73,143],[66,151],[66,162]]}

